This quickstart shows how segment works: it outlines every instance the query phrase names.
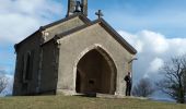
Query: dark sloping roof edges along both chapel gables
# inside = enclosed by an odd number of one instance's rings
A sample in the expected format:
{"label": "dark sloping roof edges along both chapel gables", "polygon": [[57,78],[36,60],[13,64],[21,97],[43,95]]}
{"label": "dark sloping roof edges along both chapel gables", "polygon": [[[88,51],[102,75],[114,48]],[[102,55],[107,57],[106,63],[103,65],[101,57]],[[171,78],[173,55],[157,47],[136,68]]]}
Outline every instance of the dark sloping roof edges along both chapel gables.
{"label": "dark sloping roof edges along both chapel gables", "polygon": [[[105,20],[103,19],[97,19],[95,21],[90,21],[84,14],[81,14],[81,13],[77,13],[77,14],[73,14],[73,15],[70,15],[68,17],[65,17],[62,20],[59,20],[57,22],[54,22],[54,23],[50,23],[48,25],[45,25],[45,26],[40,26],[38,31],[36,31],[34,34],[32,34],[31,36],[28,36],[27,38],[25,38],[24,40],[22,40],[21,43],[16,44],[15,46],[19,46],[21,45],[23,41],[27,40],[28,38],[31,38],[33,35],[35,35],[36,33],[42,33],[43,31],[49,28],[49,27],[53,27],[55,25],[58,25],[60,23],[63,23],[63,22],[67,22],[71,19],[74,19],[74,17],[80,17],[80,20],[82,20],[85,24],[82,25],[82,26],[78,26],[75,28],[72,28],[68,32],[65,32],[65,33],[61,33],[61,34],[57,34],[54,38],[51,38],[50,40],[48,41],[51,41],[53,39],[59,39],[59,38],[62,38],[67,35],[70,35],[70,34],[73,34],[75,32],[79,32],[81,29],[84,29],[89,26],[92,26],[94,24],[101,24],[102,27],[104,27],[124,48],[126,48],[130,53],[132,55],[136,55],[137,53],[137,50],[130,45],[128,44]],[[46,45],[48,41],[42,44],[42,46]]]}

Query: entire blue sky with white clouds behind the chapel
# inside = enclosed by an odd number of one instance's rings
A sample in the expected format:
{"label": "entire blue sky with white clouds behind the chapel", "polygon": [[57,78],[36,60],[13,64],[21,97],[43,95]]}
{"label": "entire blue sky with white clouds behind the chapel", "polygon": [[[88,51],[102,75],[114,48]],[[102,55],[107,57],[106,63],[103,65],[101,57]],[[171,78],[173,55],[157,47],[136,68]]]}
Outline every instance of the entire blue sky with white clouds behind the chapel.
{"label": "entire blue sky with white clouds behind the chapel", "polygon": [[[89,0],[89,19],[96,20],[101,9],[103,19],[138,50],[133,83],[142,77],[155,81],[164,62],[186,53],[185,5],[186,0]],[[67,0],[0,0],[0,73],[10,84],[14,44],[66,13]]]}

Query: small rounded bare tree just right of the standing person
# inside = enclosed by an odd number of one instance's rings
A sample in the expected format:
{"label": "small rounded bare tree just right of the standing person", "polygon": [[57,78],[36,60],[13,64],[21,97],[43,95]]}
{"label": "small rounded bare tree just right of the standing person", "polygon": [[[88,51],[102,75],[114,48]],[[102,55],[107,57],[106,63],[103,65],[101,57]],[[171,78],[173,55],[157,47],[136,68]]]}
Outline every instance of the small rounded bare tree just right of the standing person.
{"label": "small rounded bare tree just right of the standing person", "polygon": [[152,95],[155,89],[149,78],[141,78],[132,88],[132,95],[138,97],[148,97]]}

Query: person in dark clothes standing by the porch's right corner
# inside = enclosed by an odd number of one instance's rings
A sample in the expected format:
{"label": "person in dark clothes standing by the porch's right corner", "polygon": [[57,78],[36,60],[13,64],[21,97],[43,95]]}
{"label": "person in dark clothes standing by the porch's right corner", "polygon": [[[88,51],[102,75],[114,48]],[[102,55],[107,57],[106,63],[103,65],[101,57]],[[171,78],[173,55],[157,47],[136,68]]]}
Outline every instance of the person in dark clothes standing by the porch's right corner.
{"label": "person in dark clothes standing by the porch's right corner", "polygon": [[126,81],[126,96],[130,96],[131,93],[131,73],[128,74],[124,78]]}

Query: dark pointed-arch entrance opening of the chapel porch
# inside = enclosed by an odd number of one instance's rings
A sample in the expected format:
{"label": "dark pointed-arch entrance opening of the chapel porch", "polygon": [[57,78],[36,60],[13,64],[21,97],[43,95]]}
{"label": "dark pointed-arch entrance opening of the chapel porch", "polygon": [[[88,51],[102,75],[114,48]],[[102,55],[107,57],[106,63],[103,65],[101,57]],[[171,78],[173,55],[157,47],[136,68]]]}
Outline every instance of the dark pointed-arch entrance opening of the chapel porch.
{"label": "dark pointed-arch entrance opening of the chapel porch", "polygon": [[116,66],[101,47],[84,53],[77,63],[75,92],[82,94],[115,94]]}

